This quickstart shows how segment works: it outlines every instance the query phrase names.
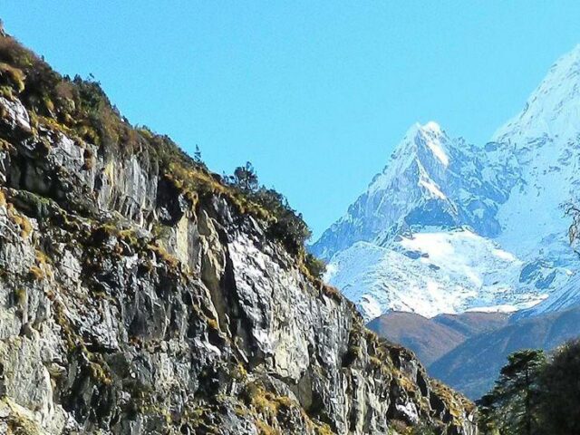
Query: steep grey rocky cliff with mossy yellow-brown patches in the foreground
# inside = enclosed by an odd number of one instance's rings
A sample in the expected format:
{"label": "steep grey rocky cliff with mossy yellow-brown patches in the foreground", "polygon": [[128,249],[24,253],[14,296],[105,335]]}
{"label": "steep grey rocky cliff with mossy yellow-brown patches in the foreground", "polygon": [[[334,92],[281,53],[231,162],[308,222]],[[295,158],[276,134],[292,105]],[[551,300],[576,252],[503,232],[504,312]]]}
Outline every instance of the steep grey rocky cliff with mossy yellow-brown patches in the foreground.
{"label": "steep grey rocky cliff with mossy yellow-brown patches in the foreground", "polygon": [[0,36],[0,432],[476,432],[275,219]]}

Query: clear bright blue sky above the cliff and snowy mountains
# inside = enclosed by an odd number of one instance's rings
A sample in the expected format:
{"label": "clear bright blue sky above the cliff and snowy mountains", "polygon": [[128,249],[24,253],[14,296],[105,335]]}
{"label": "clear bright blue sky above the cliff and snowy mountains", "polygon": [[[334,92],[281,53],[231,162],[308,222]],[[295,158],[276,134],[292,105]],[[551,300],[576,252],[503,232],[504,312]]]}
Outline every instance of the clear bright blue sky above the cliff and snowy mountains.
{"label": "clear bright blue sky above the cliff and snowy mountains", "polygon": [[5,0],[0,16],[210,169],[252,161],[316,236],[411,123],[484,143],[580,43],[580,2],[565,1]]}

